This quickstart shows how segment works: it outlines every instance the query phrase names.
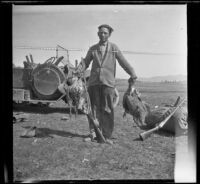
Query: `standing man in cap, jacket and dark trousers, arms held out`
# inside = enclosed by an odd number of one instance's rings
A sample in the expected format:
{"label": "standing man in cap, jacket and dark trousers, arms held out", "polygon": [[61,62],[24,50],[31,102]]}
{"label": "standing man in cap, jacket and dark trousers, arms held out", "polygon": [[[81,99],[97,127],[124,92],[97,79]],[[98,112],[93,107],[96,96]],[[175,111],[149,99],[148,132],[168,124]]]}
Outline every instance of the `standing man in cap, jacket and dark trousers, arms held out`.
{"label": "standing man in cap, jacket and dark trousers, arms held out", "polygon": [[[134,69],[124,58],[119,48],[108,41],[112,32],[113,28],[107,24],[98,27],[99,43],[90,47],[85,59],[77,69],[78,72],[82,72],[93,61],[88,81],[88,93],[93,114],[99,121],[99,128],[106,141],[111,143],[110,138],[114,129],[113,99],[115,97],[116,59],[120,66],[130,75],[128,80],[130,84],[133,85],[137,78]],[[93,141],[96,139],[96,134],[89,118],[88,121],[90,137],[86,138],[86,140]]]}

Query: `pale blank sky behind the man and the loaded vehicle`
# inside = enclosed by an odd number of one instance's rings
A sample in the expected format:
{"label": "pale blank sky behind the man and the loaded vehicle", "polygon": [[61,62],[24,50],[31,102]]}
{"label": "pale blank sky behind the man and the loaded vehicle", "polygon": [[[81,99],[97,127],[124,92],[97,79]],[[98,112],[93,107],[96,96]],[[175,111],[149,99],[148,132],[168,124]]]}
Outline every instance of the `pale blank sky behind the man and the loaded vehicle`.
{"label": "pale blank sky behind the man and the loaded vehicle", "polygon": [[[82,50],[69,52],[74,64],[75,59],[80,61],[88,48],[99,41],[97,27],[109,24],[114,28],[110,41],[122,51],[133,52],[124,52],[124,56],[138,77],[187,75],[186,19],[186,5],[15,5],[13,62],[23,66],[25,55],[32,54],[36,63],[43,63],[56,54],[16,47],[61,45]],[[119,65],[116,75],[128,78]]]}

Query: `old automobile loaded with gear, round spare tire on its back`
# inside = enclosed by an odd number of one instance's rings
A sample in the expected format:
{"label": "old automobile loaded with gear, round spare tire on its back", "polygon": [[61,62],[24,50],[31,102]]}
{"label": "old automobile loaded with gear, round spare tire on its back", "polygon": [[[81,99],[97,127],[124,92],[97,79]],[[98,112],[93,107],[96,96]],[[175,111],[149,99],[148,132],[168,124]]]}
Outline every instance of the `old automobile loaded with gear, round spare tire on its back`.
{"label": "old automobile loaded with gear, round spare tire on its back", "polygon": [[[61,49],[66,53],[59,55]],[[74,66],[69,61],[68,50],[57,46],[56,56],[44,63],[34,63],[30,54],[23,64],[24,67],[13,66],[13,102],[48,105],[63,99],[64,94],[58,90],[58,86],[72,76],[78,61],[75,61]],[[89,74],[89,70],[85,72],[86,81]]]}

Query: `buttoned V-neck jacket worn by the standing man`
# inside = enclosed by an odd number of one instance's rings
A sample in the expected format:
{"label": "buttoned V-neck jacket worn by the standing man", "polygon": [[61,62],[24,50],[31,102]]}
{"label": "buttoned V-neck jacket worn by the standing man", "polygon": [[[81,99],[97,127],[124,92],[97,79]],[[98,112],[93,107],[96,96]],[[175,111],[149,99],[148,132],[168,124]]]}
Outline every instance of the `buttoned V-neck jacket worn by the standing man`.
{"label": "buttoned V-neck jacket worn by the standing man", "polygon": [[82,69],[89,67],[91,61],[92,68],[89,78],[89,86],[107,85],[115,86],[116,59],[120,66],[133,78],[137,78],[134,69],[122,55],[119,48],[111,42],[108,42],[107,48],[102,57],[99,43],[90,47],[85,59],[82,62]]}

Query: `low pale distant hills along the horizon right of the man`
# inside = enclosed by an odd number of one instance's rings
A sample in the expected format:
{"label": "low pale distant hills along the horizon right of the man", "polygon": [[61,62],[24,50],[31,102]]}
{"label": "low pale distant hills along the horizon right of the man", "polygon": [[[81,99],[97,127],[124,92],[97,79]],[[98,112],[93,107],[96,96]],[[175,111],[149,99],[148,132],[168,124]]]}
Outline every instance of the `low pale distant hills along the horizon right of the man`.
{"label": "low pale distant hills along the horizon right of the man", "polygon": [[165,81],[187,81],[187,75],[166,75],[166,76],[155,76],[149,78],[138,78],[138,81],[145,82],[165,82]]}

